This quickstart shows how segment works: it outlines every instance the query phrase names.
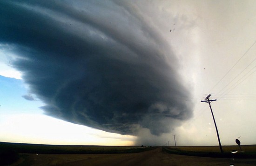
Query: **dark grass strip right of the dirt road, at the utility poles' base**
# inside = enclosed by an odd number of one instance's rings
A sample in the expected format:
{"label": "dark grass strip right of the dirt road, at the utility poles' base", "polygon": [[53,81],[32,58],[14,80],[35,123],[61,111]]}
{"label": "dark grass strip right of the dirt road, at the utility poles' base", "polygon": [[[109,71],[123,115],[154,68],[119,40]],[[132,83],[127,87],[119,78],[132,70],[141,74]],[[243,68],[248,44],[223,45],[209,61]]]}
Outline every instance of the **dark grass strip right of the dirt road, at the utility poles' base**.
{"label": "dark grass strip right of the dirt road, at the utility poles' base", "polygon": [[[220,152],[219,146],[195,146],[195,147],[162,147],[167,153],[200,156],[200,157],[217,157],[217,158],[256,158],[256,145],[241,146],[244,152],[240,152],[238,146],[222,146],[223,153]],[[232,150],[239,150],[238,153],[231,153]]]}

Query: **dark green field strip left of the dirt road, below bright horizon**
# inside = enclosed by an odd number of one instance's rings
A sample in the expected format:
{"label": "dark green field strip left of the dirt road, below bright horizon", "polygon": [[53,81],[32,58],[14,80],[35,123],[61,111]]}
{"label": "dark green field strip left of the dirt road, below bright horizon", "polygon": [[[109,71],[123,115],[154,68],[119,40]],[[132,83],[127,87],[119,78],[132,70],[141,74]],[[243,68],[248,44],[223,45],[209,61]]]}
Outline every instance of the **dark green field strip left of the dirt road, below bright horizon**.
{"label": "dark green field strip left of the dirt road, below bright horizon", "polygon": [[103,153],[139,153],[156,147],[139,146],[82,146],[82,145],[39,145],[0,142],[0,149],[17,153],[41,154],[103,154]]}

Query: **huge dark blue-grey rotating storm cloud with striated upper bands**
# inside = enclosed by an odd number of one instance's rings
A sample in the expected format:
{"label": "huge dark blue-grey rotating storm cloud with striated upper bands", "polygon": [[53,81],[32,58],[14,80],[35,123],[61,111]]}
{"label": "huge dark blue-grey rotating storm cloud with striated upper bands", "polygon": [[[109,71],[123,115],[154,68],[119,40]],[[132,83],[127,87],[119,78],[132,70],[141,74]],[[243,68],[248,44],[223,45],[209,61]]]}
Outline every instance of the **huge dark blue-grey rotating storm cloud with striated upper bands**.
{"label": "huge dark blue-grey rotating storm cloud with striated upper bands", "polygon": [[[70,4],[73,3],[73,4]],[[12,45],[47,115],[121,134],[169,132],[191,116],[166,42],[133,4],[1,1],[0,43]]]}

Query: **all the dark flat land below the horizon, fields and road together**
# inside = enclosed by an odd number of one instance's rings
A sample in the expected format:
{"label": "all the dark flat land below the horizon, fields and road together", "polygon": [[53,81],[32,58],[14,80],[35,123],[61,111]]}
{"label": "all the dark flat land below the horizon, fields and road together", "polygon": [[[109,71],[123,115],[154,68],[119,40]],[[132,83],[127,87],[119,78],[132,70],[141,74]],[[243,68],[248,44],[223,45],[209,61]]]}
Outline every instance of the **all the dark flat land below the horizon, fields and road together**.
{"label": "all the dark flat land below the horizon, fields and road together", "polygon": [[[224,151],[238,146],[223,146]],[[242,146],[255,154],[256,146]],[[256,166],[256,158],[191,156],[218,153],[214,147],[133,147],[133,146],[55,146],[0,143],[1,150],[12,148],[19,154],[11,166]],[[239,147],[238,147],[239,148]],[[166,150],[167,149],[167,150]],[[170,149],[170,151],[168,151]],[[29,153],[24,153],[29,151]],[[248,152],[247,152],[248,151]],[[41,152],[41,153],[39,153]],[[49,153],[48,153],[49,152]],[[176,154],[186,153],[186,155]],[[225,152],[230,153],[230,152]]]}

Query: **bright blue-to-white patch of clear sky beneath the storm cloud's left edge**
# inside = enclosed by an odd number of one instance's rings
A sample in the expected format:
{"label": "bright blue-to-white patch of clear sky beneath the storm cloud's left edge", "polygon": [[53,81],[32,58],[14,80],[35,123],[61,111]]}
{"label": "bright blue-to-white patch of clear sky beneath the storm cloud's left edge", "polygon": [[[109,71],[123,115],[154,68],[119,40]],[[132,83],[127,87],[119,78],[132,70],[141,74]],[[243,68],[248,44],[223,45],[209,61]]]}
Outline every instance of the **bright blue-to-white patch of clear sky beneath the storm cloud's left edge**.
{"label": "bright blue-to-white patch of clear sky beneath the storm cloud's left edge", "polygon": [[[3,142],[64,145],[133,145],[134,136],[113,134],[43,114],[44,103],[23,97],[20,79],[0,76],[0,133]],[[18,77],[19,78],[19,77]]]}

